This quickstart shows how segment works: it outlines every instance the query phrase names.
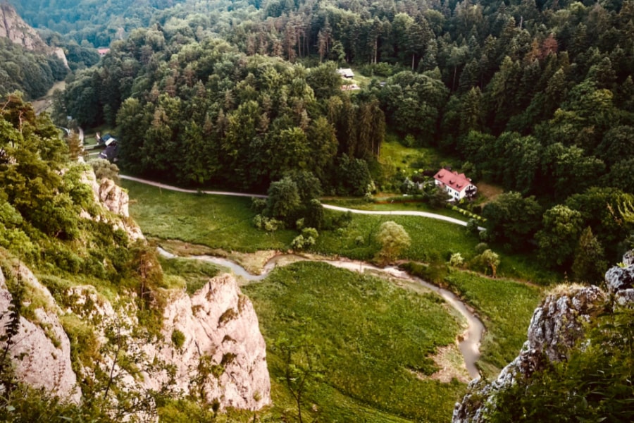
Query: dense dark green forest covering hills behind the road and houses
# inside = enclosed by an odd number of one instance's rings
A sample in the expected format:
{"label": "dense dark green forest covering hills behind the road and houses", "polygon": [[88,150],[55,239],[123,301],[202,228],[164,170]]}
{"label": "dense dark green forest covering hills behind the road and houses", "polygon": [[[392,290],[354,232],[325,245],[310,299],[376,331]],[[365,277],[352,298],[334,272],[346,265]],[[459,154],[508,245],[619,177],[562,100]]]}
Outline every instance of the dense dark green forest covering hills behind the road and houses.
{"label": "dense dark green forest covering hills behind the road and houses", "polygon": [[[632,1],[84,3],[17,6],[37,25],[55,6],[77,42],[114,40],[59,115],[117,125],[128,171],[261,192],[306,171],[364,195],[399,186],[376,161],[387,128],[504,188],[487,242],[568,270],[594,249],[594,275],[631,242]],[[97,23],[107,39],[90,38]],[[347,66],[372,82],[340,90]]]}

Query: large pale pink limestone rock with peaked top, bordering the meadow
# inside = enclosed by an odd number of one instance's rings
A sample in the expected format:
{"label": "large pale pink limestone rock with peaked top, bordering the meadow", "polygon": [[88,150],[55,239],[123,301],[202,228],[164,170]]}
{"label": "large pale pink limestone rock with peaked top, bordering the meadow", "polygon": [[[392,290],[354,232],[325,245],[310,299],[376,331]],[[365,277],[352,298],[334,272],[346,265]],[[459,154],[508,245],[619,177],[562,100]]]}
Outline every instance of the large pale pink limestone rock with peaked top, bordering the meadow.
{"label": "large pale pink limestone rock with peaked top, bordering the meadow", "polygon": [[[192,297],[175,295],[164,317],[169,342],[156,354],[175,369],[179,391],[220,407],[259,410],[271,403],[266,344],[251,301],[233,276],[211,279]],[[201,374],[211,376],[201,379]]]}

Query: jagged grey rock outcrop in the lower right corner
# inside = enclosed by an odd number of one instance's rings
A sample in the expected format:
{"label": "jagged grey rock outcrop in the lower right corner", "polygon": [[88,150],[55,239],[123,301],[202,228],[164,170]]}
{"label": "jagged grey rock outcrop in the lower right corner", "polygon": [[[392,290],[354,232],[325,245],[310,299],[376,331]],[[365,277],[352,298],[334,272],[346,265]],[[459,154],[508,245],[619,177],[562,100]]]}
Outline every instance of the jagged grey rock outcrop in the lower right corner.
{"label": "jagged grey rock outcrop in the lower right corner", "polygon": [[479,423],[495,410],[497,393],[517,381],[544,369],[549,362],[567,360],[571,348],[585,336],[584,325],[614,303],[634,305],[634,252],[623,257],[605,276],[606,290],[597,286],[561,286],[535,309],[528,327],[528,341],[518,357],[508,364],[495,381],[487,384],[475,379],[454,409],[452,422]]}

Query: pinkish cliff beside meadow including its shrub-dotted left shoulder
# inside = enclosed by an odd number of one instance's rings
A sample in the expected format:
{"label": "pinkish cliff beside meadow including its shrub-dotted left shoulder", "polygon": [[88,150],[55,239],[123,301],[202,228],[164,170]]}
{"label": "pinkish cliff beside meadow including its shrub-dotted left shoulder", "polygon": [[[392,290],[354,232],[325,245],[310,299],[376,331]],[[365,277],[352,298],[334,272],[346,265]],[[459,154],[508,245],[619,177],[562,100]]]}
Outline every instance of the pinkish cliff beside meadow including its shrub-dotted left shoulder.
{"label": "pinkish cliff beside meadow including its shrub-dotted left shoulder", "polygon": [[[92,286],[70,288],[66,297],[66,312],[92,324],[101,344],[94,366],[81,370],[94,384],[104,383],[95,376],[99,367],[103,374],[115,375],[113,388],[131,396],[170,392],[220,409],[259,410],[271,403],[266,344],[255,310],[233,276],[212,278],[191,297],[170,293],[161,336],[151,342],[139,336],[143,330],[132,302],[121,298],[113,307]],[[113,331],[119,341],[113,341]],[[118,342],[125,351],[118,350]],[[130,372],[125,364],[130,360],[142,376]]]}

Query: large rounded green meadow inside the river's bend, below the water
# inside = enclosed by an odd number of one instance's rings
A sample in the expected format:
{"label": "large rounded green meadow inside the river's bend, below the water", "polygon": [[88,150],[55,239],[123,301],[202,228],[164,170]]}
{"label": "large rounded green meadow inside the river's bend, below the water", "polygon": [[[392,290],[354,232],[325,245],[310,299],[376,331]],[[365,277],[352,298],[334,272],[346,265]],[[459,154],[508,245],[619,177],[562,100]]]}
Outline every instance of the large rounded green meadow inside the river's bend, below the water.
{"label": "large rounded green meadow inside the river's bend, below the water", "polygon": [[457,381],[416,376],[433,374],[429,356],[461,331],[435,294],[316,262],[278,268],[263,283],[242,289],[266,338],[279,410],[294,410],[283,378],[282,341],[309,340],[313,367],[323,379],[306,393],[304,411],[319,414],[319,420],[445,422],[464,392]]}

